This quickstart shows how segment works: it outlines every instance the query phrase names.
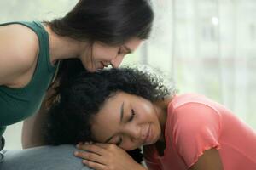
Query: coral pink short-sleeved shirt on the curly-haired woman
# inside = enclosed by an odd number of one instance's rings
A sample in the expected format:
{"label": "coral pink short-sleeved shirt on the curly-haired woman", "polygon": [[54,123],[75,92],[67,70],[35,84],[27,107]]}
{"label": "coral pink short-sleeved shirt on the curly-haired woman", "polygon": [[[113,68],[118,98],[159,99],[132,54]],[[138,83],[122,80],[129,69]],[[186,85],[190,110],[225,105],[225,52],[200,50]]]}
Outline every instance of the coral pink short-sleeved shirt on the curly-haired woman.
{"label": "coral pink short-sleeved shirt on the curly-haired woman", "polygon": [[197,94],[177,95],[168,106],[166,149],[144,147],[151,170],[184,170],[216,148],[224,170],[256,170],[256,133],[223,105]]}

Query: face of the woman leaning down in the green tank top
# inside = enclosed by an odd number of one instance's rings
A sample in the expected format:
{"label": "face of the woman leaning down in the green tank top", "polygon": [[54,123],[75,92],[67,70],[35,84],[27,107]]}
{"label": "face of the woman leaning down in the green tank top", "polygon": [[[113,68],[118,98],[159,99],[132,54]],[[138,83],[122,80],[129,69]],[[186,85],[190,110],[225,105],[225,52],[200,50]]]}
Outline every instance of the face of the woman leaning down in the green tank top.
{"label": "face of the woman leaning down in the green tank top", "polygon": [[114,68],[119,67],[126,54],[131,54],[142,43],[138,38],[132,38],[125,44],[113,47],[102,42],[94,42],[91,49],[91,57],[88,57],[88,50],[81,54],[80,59],[87,71],[94,72],[102,70],[108,65]]}

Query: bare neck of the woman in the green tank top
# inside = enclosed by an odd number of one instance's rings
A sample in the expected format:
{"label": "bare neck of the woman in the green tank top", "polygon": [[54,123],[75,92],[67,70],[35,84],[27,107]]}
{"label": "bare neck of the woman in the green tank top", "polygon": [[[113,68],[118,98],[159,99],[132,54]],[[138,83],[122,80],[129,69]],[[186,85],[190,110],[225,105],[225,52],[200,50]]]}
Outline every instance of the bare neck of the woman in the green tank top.
{"label": "bare neck of the woman in the green tank top", "polygon": [[85,48],[85,42],[79,42],[70,37],[61,37],[55,34],[49,26],[44,26],[49,34],[49,56],[52,65],[60,59],[79,58]]}

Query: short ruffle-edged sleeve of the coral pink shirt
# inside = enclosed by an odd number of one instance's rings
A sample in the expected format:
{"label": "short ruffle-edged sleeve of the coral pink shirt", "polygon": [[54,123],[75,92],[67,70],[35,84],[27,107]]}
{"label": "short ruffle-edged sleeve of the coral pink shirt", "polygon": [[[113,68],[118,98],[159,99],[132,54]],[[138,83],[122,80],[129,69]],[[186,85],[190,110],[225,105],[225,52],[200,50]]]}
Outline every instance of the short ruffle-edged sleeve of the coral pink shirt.
{"label": "short ruffle-edged sleeve of the coral pink shirt", "polygon": [[172,123],[174,146],[188,167],[205,150],[219,149],[221,116],[212,107],[196,102],[180,105],[173,112]]}

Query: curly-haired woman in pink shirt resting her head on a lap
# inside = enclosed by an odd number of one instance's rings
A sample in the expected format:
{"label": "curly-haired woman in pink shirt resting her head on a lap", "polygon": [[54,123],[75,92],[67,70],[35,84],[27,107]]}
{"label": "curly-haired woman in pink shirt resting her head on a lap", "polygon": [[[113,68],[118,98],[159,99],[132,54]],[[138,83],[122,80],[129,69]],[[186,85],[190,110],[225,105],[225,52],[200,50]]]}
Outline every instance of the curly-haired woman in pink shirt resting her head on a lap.
{"label": "curly-haired woman in pink shirt resting her head on a lap", "polygon": [[[96,170],[146,169],[125,150],[143,146],[150,170],[253,170],[256,133],[198,94],[176,94],[137,69],[84,72],[56,89],[45,142],[78,144]],[[93,143],[91,143],[93,142]]]}

